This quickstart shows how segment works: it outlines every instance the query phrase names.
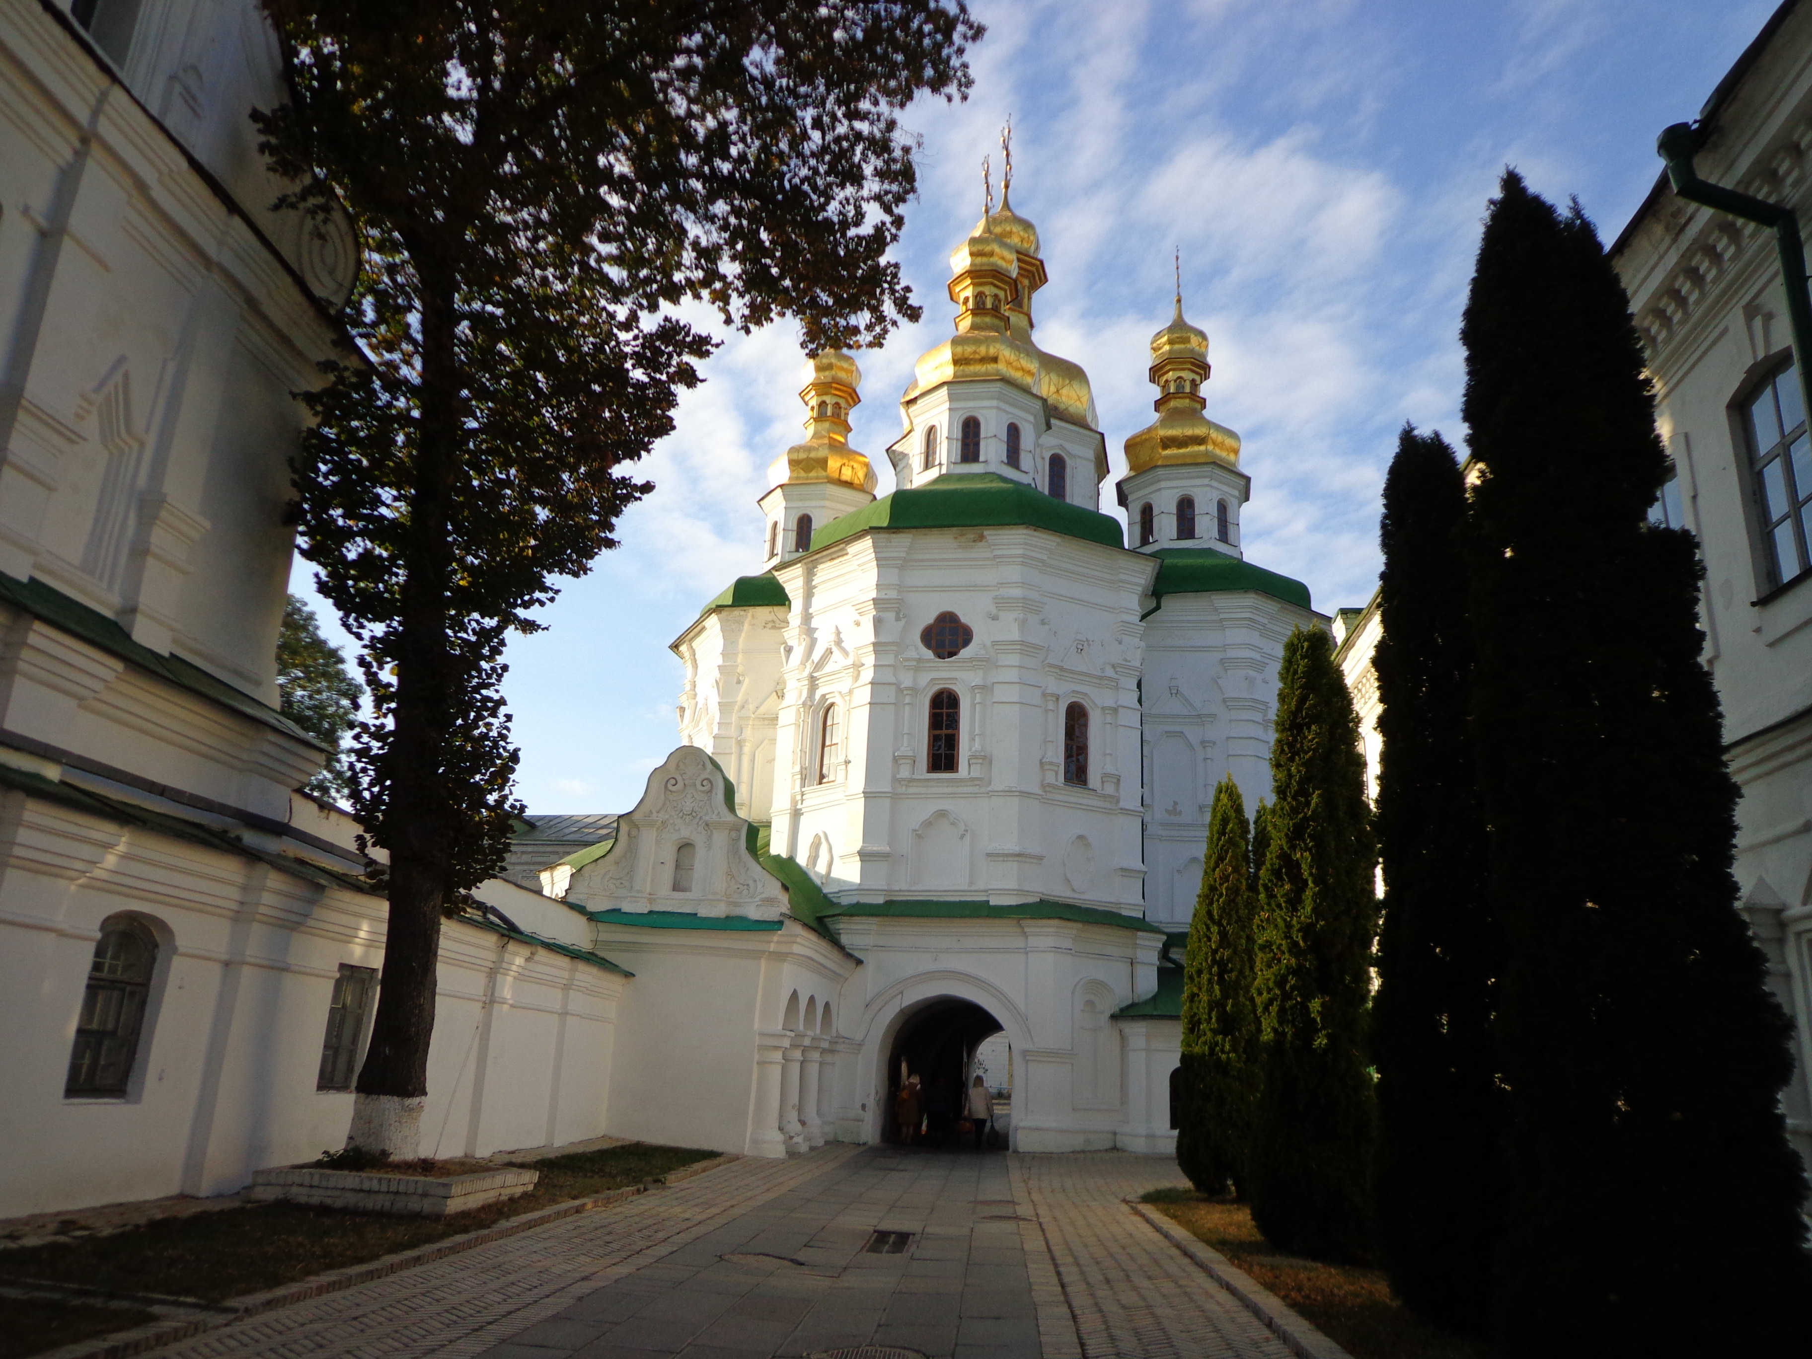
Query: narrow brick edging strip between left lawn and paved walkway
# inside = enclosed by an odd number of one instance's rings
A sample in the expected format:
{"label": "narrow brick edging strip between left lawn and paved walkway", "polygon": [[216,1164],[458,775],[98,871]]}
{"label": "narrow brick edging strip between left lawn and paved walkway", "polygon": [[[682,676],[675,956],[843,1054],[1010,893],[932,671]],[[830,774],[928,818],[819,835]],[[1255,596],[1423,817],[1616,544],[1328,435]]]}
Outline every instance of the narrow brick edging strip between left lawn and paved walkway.
{"label": "narrow brick edging strip between left lawn and paved walkway", "polygon": [[507,1218],[500,1223],[493,1223],[491,1227],[480,1227],[475,1232],[449,1236],[444,1241],[429,1241],[424,1247],[399,1250],[391,1256],[379,1256],[364,1265],[348,1265],[346,1268],[315,1274],[308,1279],[297,1279],[295,1283],[286,1283],[277,1288],[266,1288],[261,1294],[230,1297],[219,1305],[223,1310],[216,1316],[185,1317],[181,1321],[150,1321],[143,1326],[132,1326],[130,1330],[114,1332],[112,1335],[101,1335],[100,1339],[76,1341],[74,1345],[63,1345],[56,1350],[45,1350],[43,1354],[33,1355],[33,1359],[129,1359],[134,1354],[145,1354],[147,1350],[174,1345],[176,1341],[187,1341],[190,1335],[199,1335],[205,1330],[214,1330],[216,1326],[225,1326],[232,1321],[243,1321],[245,1317],[259,1316],[261,1312],[275,1312],[283,1306],[306,1303],[312,1297],[335,1294],[342,1288],[355,1288],[361,1283],[382,1279],[390,1274],[415,1268],[417,1265],[431,1265],[437,1259],[458,1256],[466,1250],[473,1250],[491,1241],[502,1241],[507,1236],[516,1236],[562,1218],[573,1218],[580,1212],[607,1209],[612,1203],[636,1198],[651,1189],[663,1189],[665,1185],[680,1180],[690,1180],[696,1174],[716,1171],[718,1167],[737,1160],[741,1160],[741,1156],[725,1154],[714,1156],[708,1161],[681,1165],[678,1171],[669,1171],[667,1174],[656,1176],[654,1180],[640,1185],[611,1189],[603,1194],[593,1194],[591,1198],[576,1198],[571,1203],[554,1203],[540,1212],[525,1212],[520,1218]]}

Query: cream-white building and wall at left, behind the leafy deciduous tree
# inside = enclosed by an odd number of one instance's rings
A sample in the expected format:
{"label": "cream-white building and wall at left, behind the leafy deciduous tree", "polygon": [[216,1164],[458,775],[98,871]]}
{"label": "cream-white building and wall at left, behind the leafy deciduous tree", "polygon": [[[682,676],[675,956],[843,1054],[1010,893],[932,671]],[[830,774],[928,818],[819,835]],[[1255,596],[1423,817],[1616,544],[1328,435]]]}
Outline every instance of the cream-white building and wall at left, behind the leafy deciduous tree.
{"label": "cream-white building and wall at left, behind the leafy deciduous tree", "polygon": [[[384,948],[277,712],[292,391],[350,226],[270,203],[254,0],[0,5],[0,1216],[346,1140]],[[596,1134],[627,977],[538,892],[446,928],[424,1145]],[[507,924],[506,924],[507,920]]]}

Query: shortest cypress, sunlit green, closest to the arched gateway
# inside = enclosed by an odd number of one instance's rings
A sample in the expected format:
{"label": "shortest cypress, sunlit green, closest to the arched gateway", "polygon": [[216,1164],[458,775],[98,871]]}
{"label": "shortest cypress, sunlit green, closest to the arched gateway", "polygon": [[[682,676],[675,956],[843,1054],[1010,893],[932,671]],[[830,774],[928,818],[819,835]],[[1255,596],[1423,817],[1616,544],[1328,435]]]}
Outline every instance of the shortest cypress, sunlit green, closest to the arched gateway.
{"label": "shortest cypress, sunlit green, closest to the arched gateway", "polygon": [[1252,1018],[1252,846],[1239,785],[1209,814],[1201,892],[1183,964],[1183,1087],[1176,1161],[1203,1194],[1245,1189],[1258,1031]]}

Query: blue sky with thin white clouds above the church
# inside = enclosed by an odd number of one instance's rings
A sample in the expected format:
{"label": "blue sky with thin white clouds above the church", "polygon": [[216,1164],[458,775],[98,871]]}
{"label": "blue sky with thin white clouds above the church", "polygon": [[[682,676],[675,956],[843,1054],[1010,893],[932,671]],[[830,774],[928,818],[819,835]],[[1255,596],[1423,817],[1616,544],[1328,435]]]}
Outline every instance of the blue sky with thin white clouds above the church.
{"label": "blue sky with thin white clouds above the church", "polygon": [[[1377,496],[1404,420],[1464,439],[1459,315],[1504,165],[1576,194],[1609,241],[1774,0],[982,0],[968,103],[908,112],[920,196],[899,259],[924,321],[857,355],[852,442],[882,449],[920,352],[949,333],[946,257],[980,216],[1013,116],[1013,207],[1044,241],[1038,344],[1094,384],[1118,477],[1147,424],[1149,335],[1183,303],[1210,337],[1209,415],[1252,477],[1247,556],[1308,582],[1323,612],[1377,578]],[[997,170],[998,174],[998,170]],[[531,812],[618,812],[678,743],[699,605],[761,569],[768,462],[799,439],[797,332],[727,333],[622,547],[509,649],[506,692]],[[1104,495],[1113,504],[1111,484]],[[310,593],[297,562],[295,587]],[[321,605],[324,622],[332,611]]]}

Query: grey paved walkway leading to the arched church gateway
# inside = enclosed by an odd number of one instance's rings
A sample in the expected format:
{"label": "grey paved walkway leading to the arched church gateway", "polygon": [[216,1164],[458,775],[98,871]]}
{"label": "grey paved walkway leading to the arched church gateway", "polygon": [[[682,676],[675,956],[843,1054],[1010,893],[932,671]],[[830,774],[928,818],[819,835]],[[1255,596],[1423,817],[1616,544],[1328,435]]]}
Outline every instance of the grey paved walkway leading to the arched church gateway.
{"label": "grey paved walkway leading to the arched church gateway", "polygon": [[158,1354],[1288,1359],[1125,1207],[1172,1183],[1174,1161],[1125,1152],[741,1160]]}

